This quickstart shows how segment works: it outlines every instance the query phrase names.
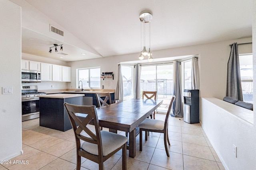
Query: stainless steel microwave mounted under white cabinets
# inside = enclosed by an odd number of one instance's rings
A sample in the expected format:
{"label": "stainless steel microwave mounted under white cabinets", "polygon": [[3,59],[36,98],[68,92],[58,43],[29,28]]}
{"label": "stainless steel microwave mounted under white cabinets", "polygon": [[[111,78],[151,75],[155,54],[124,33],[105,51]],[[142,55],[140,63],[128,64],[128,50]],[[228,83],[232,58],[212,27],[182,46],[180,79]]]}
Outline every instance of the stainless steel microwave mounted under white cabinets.
{"label": "stainless steel microwave mounted under white cabinets", "polygon": [[21,71],[21,82],[22,83],[36,83],[41,82],[41,72],[40,71]]}

